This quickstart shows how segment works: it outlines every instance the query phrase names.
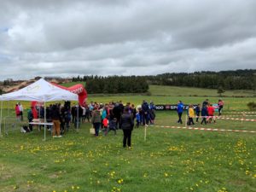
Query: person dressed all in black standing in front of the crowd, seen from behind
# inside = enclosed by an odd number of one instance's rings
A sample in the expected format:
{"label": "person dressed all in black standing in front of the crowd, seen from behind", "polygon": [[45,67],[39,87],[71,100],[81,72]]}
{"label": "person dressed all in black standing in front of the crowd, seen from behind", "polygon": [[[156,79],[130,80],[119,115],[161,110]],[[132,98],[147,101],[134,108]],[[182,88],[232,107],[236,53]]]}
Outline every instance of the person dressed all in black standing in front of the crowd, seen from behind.
{"label": "person dressed all in black standing in front of the crowd, seen from behind", "polygon": [[123,147],[126,148],[126,145],[128,145],[128,148],[131,148],[131,131],[133,130],[134,121],[132,114],[129,113],[129,108],[125,108],[124,113],[121,116],[120,119],[120,127],[124,132],[123,137]]}

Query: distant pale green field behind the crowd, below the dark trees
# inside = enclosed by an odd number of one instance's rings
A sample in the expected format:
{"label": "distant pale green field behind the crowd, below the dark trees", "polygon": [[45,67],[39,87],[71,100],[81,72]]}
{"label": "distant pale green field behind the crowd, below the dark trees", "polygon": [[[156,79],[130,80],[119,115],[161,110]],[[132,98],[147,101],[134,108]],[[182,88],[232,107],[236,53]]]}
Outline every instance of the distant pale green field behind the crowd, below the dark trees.
{"label": "distant pale green field behind the crowd, below the dark trees", "polygon": [[[73,84],[83,84],[84,82],[73,82],[66,85],[67,87]],[[205,99],[209,99],[212,103],[217,103],[219,96],[217,90],[188,88],[188,87],[173,87],[173,86],[149,86],[150,96],[146,95],[131,95],[131,94],[115,94],[115,95],[88,95],[87,102],[131,102],[135,105],[139,105],[146,100],[148,102],[153,101],[154,104],[176,104],[178,100],[182,100],[185,104],[202,103]],[[195,94],[196,93],[196,94]],[[234,90],[227,91],[222,97],[224,100],[224,110],[248,110],[248,102],[256,102],[256,97],[253,97],[253,90]],[[245,96],[245,97],[233,97],[233,96]],[[22,101],[21,101],[22,102]],[[15,106],[14,101],[3,102],[3,108],[13,108]],[[30,102],[22,102],[25,108],[29,108]],[[75,102],[73,102],[75,103]],[[9,106],[9,107],[8,107]]]}

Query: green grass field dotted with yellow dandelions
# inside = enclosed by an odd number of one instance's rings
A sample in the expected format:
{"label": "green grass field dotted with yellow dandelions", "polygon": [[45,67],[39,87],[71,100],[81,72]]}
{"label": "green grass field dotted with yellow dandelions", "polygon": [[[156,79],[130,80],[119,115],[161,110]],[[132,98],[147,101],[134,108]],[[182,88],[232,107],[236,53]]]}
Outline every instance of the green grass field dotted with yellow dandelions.
{"label": "green grass field dotted with yellow dandelions", "polygon": [[[140,104],[143,99],[154,103],[177,103],[181,99],[201,103],[206,98],[155,95],[89,96],[89,101]],[[215,102],[218,97],[209,100]],[[246,111],[249,101],[255,102],[255,97],[225,97],[224,115]],[[4,103],[4,107],[13,104]],[[7,110],[3,113],[6,115]],[[9,111],[9,115],[14,114]],[[45,142],[43,130],[28,134],[9,131],[9,135],[0,137],[0,191],[256,191],[256,133],[160,128],[158,125],[177,126],[177,113],[156,115],[155,125],[147,129],[146,141],[143,127],[133,131],[131,149],[122,148],[120,130],[117,136],[113,132],[107,137],[91,136],[90,123],[61,138],[51,138],[48,132]],[[218,119],[216,124],[195,127],[255,131],[255,125]]]}

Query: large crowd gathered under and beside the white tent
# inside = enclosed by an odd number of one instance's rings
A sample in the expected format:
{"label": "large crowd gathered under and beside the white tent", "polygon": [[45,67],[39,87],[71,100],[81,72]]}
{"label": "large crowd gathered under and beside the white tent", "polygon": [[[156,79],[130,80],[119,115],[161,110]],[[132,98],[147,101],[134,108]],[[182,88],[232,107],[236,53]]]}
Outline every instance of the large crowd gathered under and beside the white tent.
{"label": "large crowd gathered under and beside the white tent", "polygon": [[[17,119],[21,120],[22,113],[18,113],[19,106],[22,108],[22,105],[17,103],[15,111]],[[90,102],[84,106],[75,104],[71,106],[70,102],[65,102],[64,105],[56,103],[50,104],[45,110],[44,105],[35,105],[27,111],[27,119],[30,124],[26,131],[32,131],[34,126],[41,129],[43,125],[36,125],[33,122],[35,119],[44,119],[44,116],[48,123],[52,122],[53,124],[52,126],[47,125],[48,130],[52,132],[52,137],[61,137],[70,127],[76,129],[81,124],[88,122],[93,125],[96,137],[99,136],[100,131],[103,136],[107,136],[109,131],[113,131],[116,135],[118,129],[123,130],[124,147],[126,145],[131,147],[131,131],[134,127],[139,128],[140,125],[154,124],[155,107],[154,102],[146,101],[137,107],[130,102],[123,104],[122,101],[106,104]]]}

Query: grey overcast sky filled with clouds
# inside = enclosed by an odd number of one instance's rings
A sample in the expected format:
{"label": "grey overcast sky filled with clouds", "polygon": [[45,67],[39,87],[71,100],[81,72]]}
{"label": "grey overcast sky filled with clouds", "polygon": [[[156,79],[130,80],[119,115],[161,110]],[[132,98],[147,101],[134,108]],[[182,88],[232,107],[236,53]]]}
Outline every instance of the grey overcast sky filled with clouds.
{"label": "grey overcast sky filled with clouds", "polygon": [[256,68],[255,0],[0,0],[0,80]]}

